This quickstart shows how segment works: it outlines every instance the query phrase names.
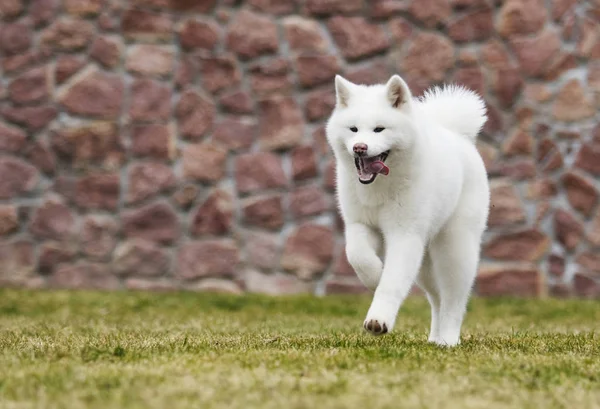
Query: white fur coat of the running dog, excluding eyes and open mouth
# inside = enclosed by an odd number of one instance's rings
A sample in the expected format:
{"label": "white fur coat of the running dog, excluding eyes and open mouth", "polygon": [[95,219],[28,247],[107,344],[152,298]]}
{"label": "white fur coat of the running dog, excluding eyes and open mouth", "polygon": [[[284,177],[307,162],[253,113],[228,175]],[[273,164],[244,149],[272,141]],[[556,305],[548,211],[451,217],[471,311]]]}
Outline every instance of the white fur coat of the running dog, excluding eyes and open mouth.
{"label": "white fur coat of the running dog, excluding eyes and open mouth", "polygon": [[[485,104],[458,86],[415,99],[397,75],[374,86],[336,76],[335,88],[327,139],[336,158],[346,255],[374,291],[363,326],[375,335],[391,331],[416,283],[431,304],[429,341],[456,345],[488,217],[487,174],[475,148]],[[375,133],[376,127],[385,129]],[[368,145],[367,156],[390,150],[390,174],[361,184],[356,143]]]}

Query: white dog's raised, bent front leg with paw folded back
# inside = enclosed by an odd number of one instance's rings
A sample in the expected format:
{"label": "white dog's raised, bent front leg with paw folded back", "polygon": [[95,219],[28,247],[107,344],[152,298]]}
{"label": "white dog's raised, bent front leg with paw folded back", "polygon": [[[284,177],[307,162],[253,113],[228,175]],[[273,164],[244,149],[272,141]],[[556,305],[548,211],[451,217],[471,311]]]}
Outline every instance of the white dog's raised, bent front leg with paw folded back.
{"label": "white dog's raised, bent front leg with paw folded back", "polygon": [[383,270],[377,255],[381,241],[379,233],[364,224],[346,225],[346,257],[360,281],[371,291],[377,288]]}

